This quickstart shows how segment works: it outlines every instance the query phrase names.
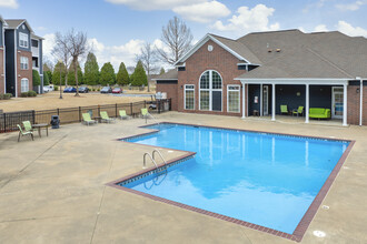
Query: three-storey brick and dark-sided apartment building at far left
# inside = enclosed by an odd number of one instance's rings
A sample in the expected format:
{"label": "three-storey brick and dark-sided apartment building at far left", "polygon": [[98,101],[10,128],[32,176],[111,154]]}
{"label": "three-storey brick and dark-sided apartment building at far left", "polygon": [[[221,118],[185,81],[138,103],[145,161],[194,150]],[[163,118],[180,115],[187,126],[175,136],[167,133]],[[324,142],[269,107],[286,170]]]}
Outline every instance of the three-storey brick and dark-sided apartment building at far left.
{"label": "three-storey brick and dark-sided apartment building at far left", "polygon": [[[0,17],[0,94],[34,90],[42,92],[42,38],[33,34],[27,20],[4,20]],[[32,70],[41,77],[41,85],[33,87]]]}

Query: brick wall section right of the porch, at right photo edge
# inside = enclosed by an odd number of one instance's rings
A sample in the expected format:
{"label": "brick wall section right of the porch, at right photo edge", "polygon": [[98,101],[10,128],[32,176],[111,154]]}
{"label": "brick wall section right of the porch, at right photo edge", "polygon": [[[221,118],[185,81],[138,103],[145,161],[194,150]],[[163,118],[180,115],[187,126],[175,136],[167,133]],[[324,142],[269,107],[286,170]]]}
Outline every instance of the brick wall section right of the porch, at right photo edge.
{"label": "brick wall section right of the porch, at right photo edge", "polygon": [[[357,93],[359,85],[348,85],[348,123],[359,124],[359,101],[360,93]],[[363,124],[367,125],[367,87],[364,87],[363,99]]]}

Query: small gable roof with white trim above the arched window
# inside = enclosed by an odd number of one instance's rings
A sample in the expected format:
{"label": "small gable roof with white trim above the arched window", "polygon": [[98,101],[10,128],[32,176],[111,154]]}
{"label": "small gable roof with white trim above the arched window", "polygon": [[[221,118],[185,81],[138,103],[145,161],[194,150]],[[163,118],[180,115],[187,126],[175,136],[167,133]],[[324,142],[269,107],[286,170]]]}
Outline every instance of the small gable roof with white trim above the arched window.
{"label": "small gable roof with white trim above the arched window", "polygon": [[201,48],[207,41],[214,41],[221,48],[230,52],[232,55],[238,58],[246,63],[259,64],[259,60],[248,50],[244,44],[237,43],[235,40],[222,38],[219,35],[207,33],[200,41],[198,41],[184,57],[181,57],[175,65],[184,63],[188,58],[190,58],[199,48]]}

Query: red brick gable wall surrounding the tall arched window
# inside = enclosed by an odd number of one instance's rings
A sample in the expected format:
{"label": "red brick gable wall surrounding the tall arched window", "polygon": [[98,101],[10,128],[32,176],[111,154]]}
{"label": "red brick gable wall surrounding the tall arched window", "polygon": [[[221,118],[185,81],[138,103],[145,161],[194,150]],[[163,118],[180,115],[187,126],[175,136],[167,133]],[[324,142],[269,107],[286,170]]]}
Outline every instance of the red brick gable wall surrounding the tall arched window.
{"label": "red brick gable wall surrounding the tall arched window", "polygon": [[[208,44],[214,47],[211,52],[208,51]],[[239,113],[227,113],[227,85],[241,84],[234,79],[246,72],[238,70],[237,63],[241,62],[235,55],[226,51],[214,41],[209,40],[199,50],[197,50],[188,60],[186,60],[186,71],[178,72],[178,111],[192,113],[210,113],[221,115],[241,115],[242,101],[240,101]],[[206,70],[216,70],[222,78],[222,112],[200,111],[199,110],[199,79]],[[185,84],[195,84],[195,110],[184,109],[184,89]],[[240,91],[242,99],[242,92]]]}

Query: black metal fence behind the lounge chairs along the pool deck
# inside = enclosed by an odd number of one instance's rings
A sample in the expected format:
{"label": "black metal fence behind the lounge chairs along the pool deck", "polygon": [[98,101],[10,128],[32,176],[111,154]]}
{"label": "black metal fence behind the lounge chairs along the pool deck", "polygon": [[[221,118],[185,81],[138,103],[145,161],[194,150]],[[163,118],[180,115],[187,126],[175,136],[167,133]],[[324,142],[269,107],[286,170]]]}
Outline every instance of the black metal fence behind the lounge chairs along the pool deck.
{"label": "black metal fence behind the lounge chairs along the pool deck", "polygon": [[22,121],[30,121],[32,124],[50,123],[51,115],[59,115],[60,123],[78,123],[82,121],[82,113],[90,113],[92,118],[99,116],[101,111],[106,111],[109,116],[119,116],[119,111],[125,110],[132,118],[141,113],[142,108],[148,108],[150,113],[161,113],[171,110],[171,100],[141,101],[131,103],[116,103],[107,105],[77,106],[66,109],[41,110],[41,111],[19,111],[0,114],[0,133],[17,131],[17,124]]}

